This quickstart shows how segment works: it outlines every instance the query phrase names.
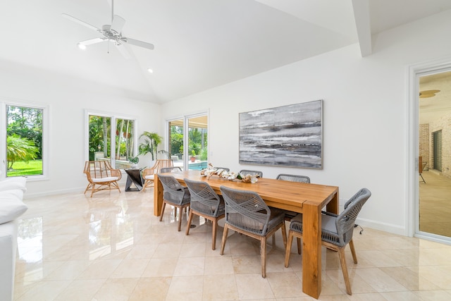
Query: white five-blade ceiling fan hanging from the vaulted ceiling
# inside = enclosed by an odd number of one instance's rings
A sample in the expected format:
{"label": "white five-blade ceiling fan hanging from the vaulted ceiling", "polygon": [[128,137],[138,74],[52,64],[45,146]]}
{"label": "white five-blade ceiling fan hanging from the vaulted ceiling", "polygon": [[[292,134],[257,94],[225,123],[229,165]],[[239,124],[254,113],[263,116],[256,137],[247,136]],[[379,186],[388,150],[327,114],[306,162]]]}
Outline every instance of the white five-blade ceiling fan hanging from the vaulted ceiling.
{"label": "white five-blade ceiling fan hanging from the vaulted ceiling", "polygon": [[121,54],[125,57],[125,59],[130,59],[130,53],[124,47],[124,44],[131,44],[138,47],[144,47],[150,50],[154,49],[154,44],[150,44],[147,42],[142,42],[137,39],[130,39],[130,37],[122,36],[122,27],[125,25],[125,19],[115,15],[114,11],[114,0],[111,0],[111,24],[102,25],[101,29],[86,23],[78,18],[68,15],[67,13],[62,13],[61,15],[69,20],[72,20],[75,23],[86,26],[92,30],[95,30],[101,34],[101,37],[96,37],[94,39],[87,39],[85,41],[79,42],[78,47],[81,49],[86,49],[88,45],[100,43],[100,42],[112,42],[116,45],[116,48],[121,52]]}

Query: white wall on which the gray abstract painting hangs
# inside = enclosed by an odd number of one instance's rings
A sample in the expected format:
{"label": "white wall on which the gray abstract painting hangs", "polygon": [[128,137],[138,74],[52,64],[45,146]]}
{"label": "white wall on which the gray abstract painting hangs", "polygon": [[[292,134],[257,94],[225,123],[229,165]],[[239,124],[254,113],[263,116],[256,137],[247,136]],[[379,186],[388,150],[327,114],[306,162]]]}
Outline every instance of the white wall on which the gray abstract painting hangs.
{"label": "white wall on which the gray abstract painting hangs", "polygon": [[[359,217],[373,228],[407,235],[407,68],[451,54],[451,11],[373,37],[373,54],[358,45],[216,87],[162,106],[163,118],[209,108],[210,161],[232,171],[254,168],[274,178],[305,174],[338,185],[340,199],[372,192]],[[323,169],[240,166],[238,113],[323,99]],[[163,126],[162,121],[161,126]]]}

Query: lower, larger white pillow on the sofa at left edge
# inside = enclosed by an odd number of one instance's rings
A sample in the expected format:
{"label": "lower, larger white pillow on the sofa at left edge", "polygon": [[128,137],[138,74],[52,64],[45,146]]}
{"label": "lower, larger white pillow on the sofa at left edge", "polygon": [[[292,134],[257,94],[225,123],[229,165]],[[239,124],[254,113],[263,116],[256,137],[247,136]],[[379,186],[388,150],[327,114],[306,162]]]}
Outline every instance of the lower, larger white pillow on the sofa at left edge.
{"label": "lower, larger white pillow on the sofa at left edge", "polygon": [[22,190],[0,192],[0,224],[8,223],[21,216],[28,207],[22,202]]}

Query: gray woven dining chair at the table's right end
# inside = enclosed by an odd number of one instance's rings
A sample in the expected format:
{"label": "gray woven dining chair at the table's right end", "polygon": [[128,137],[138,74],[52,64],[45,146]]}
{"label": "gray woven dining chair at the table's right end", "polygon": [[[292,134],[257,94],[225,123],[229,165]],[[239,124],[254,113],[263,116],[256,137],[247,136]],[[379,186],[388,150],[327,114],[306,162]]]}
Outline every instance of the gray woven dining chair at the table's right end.
{"label": "gray woven dining chair at the table's right end", "polygon": [[[354,260],[354,264],[357,264],[357,255],[355,254],[352,234],[357,215],[369,197],[371,197],[371,192],[366,188],[362,188],[345,203],[345,210],[342,213],[337,215],[323,211],[321,215],[322,245],[338,252],[343,278],[345,278],[346,293],[348,295],[352,295],[352,291],[350,279],[347,274],[345,247],[347,244],[350,245],[352,259]],[[285,267],[288,267],[288,262],[290,262],[291,243],[294,236],[302,238],[302,214],[295,216],[290,223],[288,245],[285,250]]]}

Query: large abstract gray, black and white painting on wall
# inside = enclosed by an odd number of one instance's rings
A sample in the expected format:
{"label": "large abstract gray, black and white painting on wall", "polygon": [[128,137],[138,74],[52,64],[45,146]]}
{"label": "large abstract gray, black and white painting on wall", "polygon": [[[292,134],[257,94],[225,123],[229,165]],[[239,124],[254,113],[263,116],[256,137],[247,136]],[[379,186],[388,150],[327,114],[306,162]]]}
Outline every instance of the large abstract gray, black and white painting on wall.
{"label": "large abstract gray, black and white painting on wall", "polygon": [[323,101],[240,113],[240,164],[323,168]]}

